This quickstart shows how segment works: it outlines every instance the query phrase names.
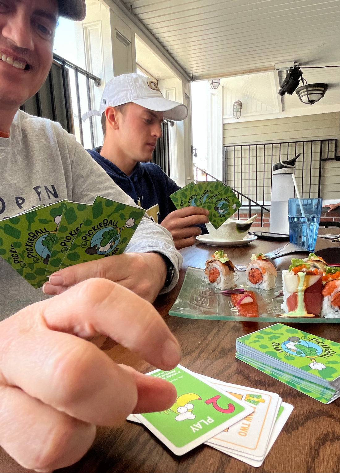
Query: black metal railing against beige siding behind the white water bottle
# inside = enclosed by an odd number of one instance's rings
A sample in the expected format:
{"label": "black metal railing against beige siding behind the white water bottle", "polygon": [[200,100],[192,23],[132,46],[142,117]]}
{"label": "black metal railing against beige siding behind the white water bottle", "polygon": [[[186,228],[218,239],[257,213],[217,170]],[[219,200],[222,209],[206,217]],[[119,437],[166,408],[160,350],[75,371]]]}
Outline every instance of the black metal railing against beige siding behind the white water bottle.
{"label": "black metal railing against beige siding behind the white water bottle", "polygon": [[322,162],[338,159],[337,139],[224,146],[224,182],[248,193],[254,201],[270,202],[272,166],[301,156],[295,177],[302,197],[320,197]]}

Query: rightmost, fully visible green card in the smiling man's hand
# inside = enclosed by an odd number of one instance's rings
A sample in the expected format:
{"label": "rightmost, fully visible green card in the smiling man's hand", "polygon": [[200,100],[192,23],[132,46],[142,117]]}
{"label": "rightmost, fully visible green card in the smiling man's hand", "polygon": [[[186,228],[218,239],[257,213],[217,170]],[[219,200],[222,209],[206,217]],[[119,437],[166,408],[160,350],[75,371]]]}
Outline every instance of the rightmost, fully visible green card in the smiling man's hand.
{"label": "rightmost, fully visible green card in the smiling man's hand", "polygon": [[60,269],[124,252],[144,209],[96,197]]}

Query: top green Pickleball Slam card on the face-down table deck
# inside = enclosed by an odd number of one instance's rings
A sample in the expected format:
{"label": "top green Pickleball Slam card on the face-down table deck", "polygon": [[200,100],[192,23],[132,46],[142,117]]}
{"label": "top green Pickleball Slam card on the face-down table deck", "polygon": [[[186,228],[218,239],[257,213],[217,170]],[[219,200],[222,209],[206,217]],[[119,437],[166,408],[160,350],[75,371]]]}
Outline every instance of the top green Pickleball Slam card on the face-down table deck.
{"label": "top green Pickleball Slam card on the face-down table deck", "polygon": [[[326,381],[340,376],[340,344],[301,330],[274,324],[236,339],[252,349],[279,360],[301,372],[313,374]],[[238,345],[237,345],[238,346]],[[239,351],[239,349],[238,349]],[[247,355],[250,356],[250,355]]]}

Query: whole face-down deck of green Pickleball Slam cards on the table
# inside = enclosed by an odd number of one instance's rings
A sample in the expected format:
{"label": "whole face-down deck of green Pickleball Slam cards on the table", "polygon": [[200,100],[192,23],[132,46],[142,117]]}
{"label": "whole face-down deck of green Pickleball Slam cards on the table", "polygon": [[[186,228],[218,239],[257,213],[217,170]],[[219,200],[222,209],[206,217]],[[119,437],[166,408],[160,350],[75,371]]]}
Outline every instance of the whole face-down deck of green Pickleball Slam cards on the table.
{"label": "whole face-down deck of green Pickleball Slam cards on the table", "polygon": [[324,404],[340,396],[340,344],[275,324],[236,339],[236,358]]}

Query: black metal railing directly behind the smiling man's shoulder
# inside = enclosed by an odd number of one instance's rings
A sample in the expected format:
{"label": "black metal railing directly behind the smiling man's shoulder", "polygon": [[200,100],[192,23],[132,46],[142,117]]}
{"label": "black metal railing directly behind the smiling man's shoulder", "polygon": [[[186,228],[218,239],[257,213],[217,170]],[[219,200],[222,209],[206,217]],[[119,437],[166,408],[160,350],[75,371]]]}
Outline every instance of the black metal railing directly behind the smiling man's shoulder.
{"label": "black metal railing directly behind the smiling man's shoulder", "polygon": [[[72,76],[70,74],[74,74],[74,81],[71,80]],[[81,121],[82,94],[80,90],[80,77],[83,82],[81,84],[82,89],[86,96],[86,109],[83,110],[83,113],[91,110],[93,106],[92,88],[93,86],[99,87],[101,79],[57,54],[53,55],[53,64],[45,84],[35,96],[28,99],[20,108],[29,114],[50,118],[54,122],[61,123],[63,128],[69,133],[75,133],[73,117],[77,117],[79,126],[79,136],[77,138],[84,145],[83,124]],[[76,105],[76,112],[72,110],[72,102]],[[93,148],[95,146],[93,117],[89,119],[89,134],[91,147]]]}

